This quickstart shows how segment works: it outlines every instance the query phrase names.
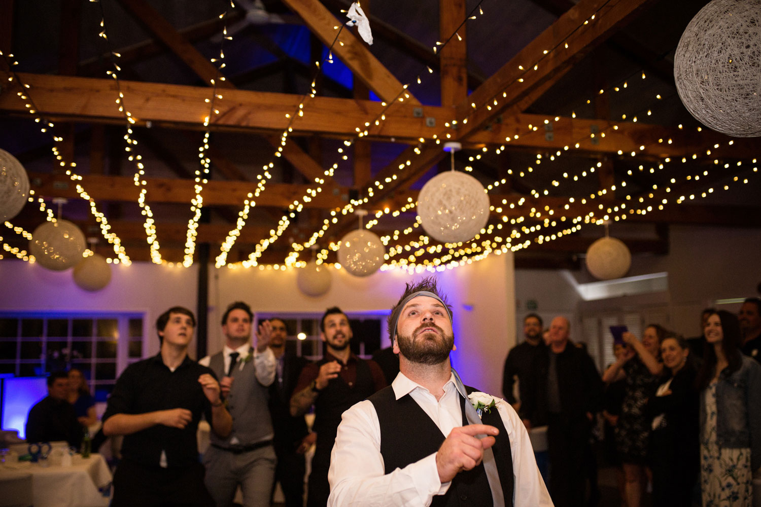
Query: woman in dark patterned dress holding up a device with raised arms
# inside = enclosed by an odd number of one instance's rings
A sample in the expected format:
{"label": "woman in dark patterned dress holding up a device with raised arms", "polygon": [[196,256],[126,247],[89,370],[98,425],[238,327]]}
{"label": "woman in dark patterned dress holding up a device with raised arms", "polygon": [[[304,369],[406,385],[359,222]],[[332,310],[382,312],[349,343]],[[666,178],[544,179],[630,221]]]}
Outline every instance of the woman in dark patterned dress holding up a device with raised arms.
{"label": "woman in dark patterned dress holding up a device with raised arms", "polygon": [[626,382],[621,415],[616,423],[616,449],[623,464],[627,507],[642,504],[642,493],[647,484],[645,464],[650,421],[645,415],[645,404],[655,394],[661,379],[660,349],[665,334],[664,328],[657,324],[645,328],[642,341],[632,333],[624,333],[626,353],[603,373],[603,382],[619,379]]}

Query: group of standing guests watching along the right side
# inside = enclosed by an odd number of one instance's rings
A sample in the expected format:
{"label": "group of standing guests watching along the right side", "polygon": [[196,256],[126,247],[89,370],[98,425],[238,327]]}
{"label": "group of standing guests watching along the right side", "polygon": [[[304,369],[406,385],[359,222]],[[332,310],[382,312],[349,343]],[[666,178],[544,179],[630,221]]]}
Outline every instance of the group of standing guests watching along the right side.
{"label": "group of standing guests watching along the right side", "polygon": [[[553,319],[540,340],[541,318],[527,315],[526,341],[508,354],[503,386],[527,428],[548,426],[555,505],[596,502],[596,414],[622,505],[644,505],[648,485],[655,507],[751,505],[753,475],[761,472],[761,299],[746,299],[738,315],[705,309],[702,335],[689,340],[657,324],[642,338],[623,332],[601,379],[582,344],[572,346],[575,373],[568,375],[556,321],[567,324]],[[564,438],[553,436],[553,426]],[[571,439],[577,443],[569,446]]]}

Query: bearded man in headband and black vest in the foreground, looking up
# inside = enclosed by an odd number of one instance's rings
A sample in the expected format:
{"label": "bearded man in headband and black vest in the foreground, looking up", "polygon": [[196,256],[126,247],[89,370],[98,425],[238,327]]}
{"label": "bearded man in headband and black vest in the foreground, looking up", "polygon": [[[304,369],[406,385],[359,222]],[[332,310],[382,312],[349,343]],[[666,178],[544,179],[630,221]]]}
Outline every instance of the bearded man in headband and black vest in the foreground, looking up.
{"label": "bearded man in headband and black vest in the foreground, looking up", "polygon": [[328,505],[552,505],[515,410],[451,368],[435,278],[407,284],[388,328],[400,374],[343,414]]}

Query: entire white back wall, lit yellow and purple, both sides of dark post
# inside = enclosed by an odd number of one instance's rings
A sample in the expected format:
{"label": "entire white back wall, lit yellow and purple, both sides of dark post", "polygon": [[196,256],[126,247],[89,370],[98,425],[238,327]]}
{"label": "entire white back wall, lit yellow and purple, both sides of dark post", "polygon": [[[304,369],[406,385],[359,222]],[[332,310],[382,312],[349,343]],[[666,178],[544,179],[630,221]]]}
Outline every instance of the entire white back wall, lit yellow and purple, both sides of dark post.
{"label": "entire white back wall, lit yellow and purple, both sides of dark post", "polygon": [[[135,262],[113,265],[108,287],[89,293],[77,287],[71,271],[48,271],[24,261],[0,262],[0,309],[19,311],[142,312],[144,355],[158,352],[153,323],[171,306],[196,309],[198,267],[159,266]],[[345,312],[387,310],[404,285],[423,274],[378,272],[358,278],[333,270],[328,293],[314,298],[296,286],[296,271],[209,269],[209,351],[222,346],[219,320],[224,308],[240,299],[255,312],[316,312],[339,306]],[[491,255],[485,261],[436,274],[454,307],[458,349],[453,362],[465,382],[495,394],[501,386],[502,363],[514,344],[514,277],[512,255]],[[155,337],[155,339],[154,339]],[[191,351],[195,344],[191,344]]]}

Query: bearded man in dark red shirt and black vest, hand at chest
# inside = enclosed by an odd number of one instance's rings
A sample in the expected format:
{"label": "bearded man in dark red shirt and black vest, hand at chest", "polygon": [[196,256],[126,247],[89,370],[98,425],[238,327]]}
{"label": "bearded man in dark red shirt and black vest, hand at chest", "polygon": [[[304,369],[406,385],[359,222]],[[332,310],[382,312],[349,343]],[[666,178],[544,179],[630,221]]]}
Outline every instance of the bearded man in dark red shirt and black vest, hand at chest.
{"label": "bearded man in dark red shirt and black vest, hand at chest", "polygon": [[380,366],[361,360],[349,348],[352,328],[349,317],[337,306],[325,311],[320,320],[320,338],[325,342],[323,359],[301,370],[291,397],[291,416],[304,414],[314,404],[317,447],[309,474],[307,507],[325,507],[330,493],[328,467],[330,449],[336,439],[341,414],[358,401],[386,387]]}

